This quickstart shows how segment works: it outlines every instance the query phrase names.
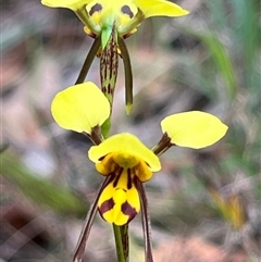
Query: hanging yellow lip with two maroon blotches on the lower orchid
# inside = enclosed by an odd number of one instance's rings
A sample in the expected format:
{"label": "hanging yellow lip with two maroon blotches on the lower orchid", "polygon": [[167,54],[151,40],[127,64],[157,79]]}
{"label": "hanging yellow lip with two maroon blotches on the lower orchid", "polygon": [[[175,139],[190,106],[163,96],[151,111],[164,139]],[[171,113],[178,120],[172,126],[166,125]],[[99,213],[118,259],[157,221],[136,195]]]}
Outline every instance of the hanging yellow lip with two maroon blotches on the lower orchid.
{"label": "hanging yellow lip with two maroon blotches on the lower orchid", "polygon": [[134,183],[130,188],[127,187],[127,179],[128,175],[124,170],[120,177],[115,176],[101,192],[98,208],[101,216],[109,223],[127,224],[140,211],[138,191]]}

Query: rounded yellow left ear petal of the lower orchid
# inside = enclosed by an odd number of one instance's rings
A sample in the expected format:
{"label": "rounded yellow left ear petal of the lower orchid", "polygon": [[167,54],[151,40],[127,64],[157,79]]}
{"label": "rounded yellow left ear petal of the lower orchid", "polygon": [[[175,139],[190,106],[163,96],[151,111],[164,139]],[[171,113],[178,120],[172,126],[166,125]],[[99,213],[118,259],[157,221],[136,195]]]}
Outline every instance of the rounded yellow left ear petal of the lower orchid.
{"label": "rounded yellow left ear petal of the lower orchid", "polygon": [[59,92],[51,104],[52,116],[64,129],[91,133],[110,115],[110,103],[91,82]]}

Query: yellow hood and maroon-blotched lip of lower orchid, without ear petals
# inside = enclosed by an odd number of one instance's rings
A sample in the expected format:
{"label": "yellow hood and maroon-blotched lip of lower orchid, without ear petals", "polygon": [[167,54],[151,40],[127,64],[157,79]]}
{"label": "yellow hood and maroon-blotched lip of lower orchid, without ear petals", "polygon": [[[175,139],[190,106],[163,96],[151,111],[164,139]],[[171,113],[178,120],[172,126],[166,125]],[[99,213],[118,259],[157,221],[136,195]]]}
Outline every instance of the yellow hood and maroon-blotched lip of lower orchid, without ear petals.
{"label": "yellow hood and maroon-blotched lip of lower orchid, without ear petals", "polygon": [[149,180],[161,169],[159,158],[128,133],[92,146],[88,155],[100,174],[111,176],[98,201],[101,216],[116,225],[127,224],[140,211],[137,183]]}

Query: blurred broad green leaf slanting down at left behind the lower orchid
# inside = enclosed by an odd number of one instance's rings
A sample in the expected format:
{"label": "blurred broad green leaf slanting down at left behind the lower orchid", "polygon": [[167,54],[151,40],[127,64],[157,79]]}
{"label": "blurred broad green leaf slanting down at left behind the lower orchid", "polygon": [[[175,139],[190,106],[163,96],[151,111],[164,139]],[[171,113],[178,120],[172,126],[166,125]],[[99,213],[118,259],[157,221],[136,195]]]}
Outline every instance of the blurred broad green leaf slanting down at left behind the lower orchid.
{"label": "blurred broad green leaf slanting down at left behind the lower orchid", "polygon": [[47,205],[63,214],[82,216],[87,212],[88,203],[75,196],[70,189],[32,173],[9,150],[0,155],[0,160],[1,175],[17,186],[34,202]]}

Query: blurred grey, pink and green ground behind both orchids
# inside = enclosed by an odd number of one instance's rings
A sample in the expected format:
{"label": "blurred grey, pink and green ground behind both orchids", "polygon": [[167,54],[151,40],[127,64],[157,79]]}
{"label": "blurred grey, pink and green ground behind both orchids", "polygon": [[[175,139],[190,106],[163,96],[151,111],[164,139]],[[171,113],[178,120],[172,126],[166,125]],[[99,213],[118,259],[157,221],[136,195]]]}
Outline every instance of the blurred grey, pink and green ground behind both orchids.
{"label": "blurred grey, pink and green ground behind both orchids", "polygon": [[[120,60],[111,134],[153,147],[169,114],[202,110],[225,122],[220,142],[170,149],[146,184],[154,261],[260,261],[260,1],[176,3],[190,14],[150,18],[126,40],[135,103],[127,116]],[[70,10],[0,4],[0,261],[71,261],[102,177],[87,158],[91,142],[61,129],[50,103],[74,85],[92,39]],[[87,79],[99,85],[99,59]],[[130,262],[144,261],[140,215],[129,237]],[[84,261],[108,258],[116,261],[113,232],[97,215]]]}

